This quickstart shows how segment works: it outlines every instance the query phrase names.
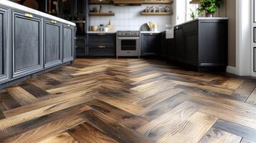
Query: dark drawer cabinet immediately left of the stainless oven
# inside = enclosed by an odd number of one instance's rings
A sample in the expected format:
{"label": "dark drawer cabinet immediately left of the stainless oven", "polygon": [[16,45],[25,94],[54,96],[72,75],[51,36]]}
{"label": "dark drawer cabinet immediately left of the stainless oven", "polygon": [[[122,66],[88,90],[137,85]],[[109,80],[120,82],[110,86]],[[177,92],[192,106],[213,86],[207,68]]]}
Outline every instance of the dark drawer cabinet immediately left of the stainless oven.
{"label": "dark drawer cabinet immediately left of the stainless oven", "polygon": [[89,56],[115,56],[115,34],[88,34]]}

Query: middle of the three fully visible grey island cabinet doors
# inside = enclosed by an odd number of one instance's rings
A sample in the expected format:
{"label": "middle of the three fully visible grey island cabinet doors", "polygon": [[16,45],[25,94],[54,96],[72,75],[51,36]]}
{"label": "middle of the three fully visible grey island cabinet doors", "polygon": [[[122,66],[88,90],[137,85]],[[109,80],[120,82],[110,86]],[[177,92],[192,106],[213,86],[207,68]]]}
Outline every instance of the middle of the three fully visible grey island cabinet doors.
{"label": "middle of the three fully visible grey island cabinet doors", "polygon": [[62,63],[62,24],[45,20],[44,24],[44,67]]}

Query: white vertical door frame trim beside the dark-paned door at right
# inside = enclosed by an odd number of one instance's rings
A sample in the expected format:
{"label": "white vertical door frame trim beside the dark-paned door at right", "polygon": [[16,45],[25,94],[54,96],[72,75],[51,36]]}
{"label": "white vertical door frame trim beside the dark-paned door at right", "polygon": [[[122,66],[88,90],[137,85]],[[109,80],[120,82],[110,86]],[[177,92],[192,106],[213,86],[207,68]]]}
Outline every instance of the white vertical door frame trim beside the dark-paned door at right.
{"label": "white vertical door frame trim beside the dark-paned door at right", "polygon": [[234,73],[251,76],[251,1],[236,0],[236,67]]}

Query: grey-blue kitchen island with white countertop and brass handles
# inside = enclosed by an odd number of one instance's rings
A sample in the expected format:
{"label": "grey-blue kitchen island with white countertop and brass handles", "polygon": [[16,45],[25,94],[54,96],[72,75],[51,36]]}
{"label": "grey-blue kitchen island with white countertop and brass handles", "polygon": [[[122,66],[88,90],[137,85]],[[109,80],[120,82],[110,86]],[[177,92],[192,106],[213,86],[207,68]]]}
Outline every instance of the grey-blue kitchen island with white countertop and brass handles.
{"label": "grey-blue kitchen island with white countertop and brass handles", "polygon": [[74,23],[5,0],[0,21],[0,89],[73,61]]}

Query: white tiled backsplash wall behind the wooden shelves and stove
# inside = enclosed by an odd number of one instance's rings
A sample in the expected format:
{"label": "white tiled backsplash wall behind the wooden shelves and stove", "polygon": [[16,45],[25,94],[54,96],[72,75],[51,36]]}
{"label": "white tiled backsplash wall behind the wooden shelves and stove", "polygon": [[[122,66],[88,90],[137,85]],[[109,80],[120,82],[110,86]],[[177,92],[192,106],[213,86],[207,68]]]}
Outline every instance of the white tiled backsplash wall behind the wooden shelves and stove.
{"label": "white tiled backsplash wall behind the wooden shelves and stove", "polygon": [[[90,5],[90,9],[100,5]],[[115,31],[118,30],[140,30],[141,26],[149,21],[158,24],[158,30],[166,30],[166,24],[173,24],[171,21],[172,16],[141,16],[141,11],[146,9],[147,6],[160,6],[160,5],[142,5],[142,6],[113,6],[103,5],[103,11],[113,11],[115,16],[90,16],[90,26],[99,24],[108,24],[112,21],[115,26]],[[161,5],[166,6],[166,5]],[[172,5],[169,5],[172,7]]]}

